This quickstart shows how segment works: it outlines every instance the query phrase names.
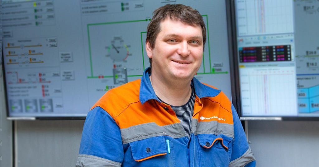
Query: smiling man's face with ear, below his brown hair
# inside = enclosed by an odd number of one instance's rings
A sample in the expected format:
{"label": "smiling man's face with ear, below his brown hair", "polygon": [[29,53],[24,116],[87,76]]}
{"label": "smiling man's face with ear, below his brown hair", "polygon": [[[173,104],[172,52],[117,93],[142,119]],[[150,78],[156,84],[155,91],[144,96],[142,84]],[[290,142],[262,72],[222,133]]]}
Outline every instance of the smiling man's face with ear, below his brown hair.
{"label": "smiling man's face with ear, below his brown hair", "polygon": [[165,80],[192,79],[203,59],[203,35],[200,25],[184,24],[169,17],[160,24],[154,48],[146,42],[152,58],[152,77]]}

